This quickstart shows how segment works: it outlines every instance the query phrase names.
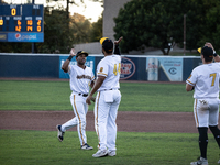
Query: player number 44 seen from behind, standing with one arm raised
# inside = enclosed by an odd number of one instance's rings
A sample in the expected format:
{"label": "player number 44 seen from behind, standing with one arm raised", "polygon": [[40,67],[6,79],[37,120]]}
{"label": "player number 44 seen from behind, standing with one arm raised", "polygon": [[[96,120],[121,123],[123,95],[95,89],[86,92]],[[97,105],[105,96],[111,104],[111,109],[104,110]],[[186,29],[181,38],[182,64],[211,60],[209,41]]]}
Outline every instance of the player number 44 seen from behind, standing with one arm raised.
{"label": "player number 44 seen from behind, standing with one arm raised", "polygon": [[[120,43],[122,37],[114,44]],[[117,114],[121,101],[119,79],[121,72],[121,56],[112,54],[113,42],[103,37],[100,40],[105,57],[97,66],[97,80],[86,102],[91,103],[92,95],[98,90],[95,105],[95,128],[99,139],[99,150],[94,157],[106,155],[116,156]],[[116,52],[114,52],[116,53]],[[118,52],[120,54],[120,52]]]}

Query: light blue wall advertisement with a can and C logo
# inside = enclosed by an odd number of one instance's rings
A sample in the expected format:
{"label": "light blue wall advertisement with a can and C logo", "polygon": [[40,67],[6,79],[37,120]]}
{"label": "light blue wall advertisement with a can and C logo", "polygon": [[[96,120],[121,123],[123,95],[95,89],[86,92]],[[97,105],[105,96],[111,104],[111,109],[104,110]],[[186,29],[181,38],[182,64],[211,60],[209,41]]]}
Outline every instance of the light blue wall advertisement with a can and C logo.
{"label": "light blue wall advertisement with a can and C logo", "polygon": [[147,57],[147,80],[160,80],[160,70],[164,72],[169,81],[183,81],[183,58]]}

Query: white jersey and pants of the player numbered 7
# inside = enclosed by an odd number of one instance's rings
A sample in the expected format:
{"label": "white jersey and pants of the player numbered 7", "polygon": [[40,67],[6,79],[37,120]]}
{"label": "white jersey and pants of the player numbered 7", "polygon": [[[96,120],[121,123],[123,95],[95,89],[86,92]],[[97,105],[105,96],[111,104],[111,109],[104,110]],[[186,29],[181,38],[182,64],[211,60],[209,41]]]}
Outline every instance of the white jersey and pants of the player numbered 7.
{"label": "white jersey and pants of the player numbered 7", "polygon": [[194,114],[197,128],[218,124],[219,76],[220,63],[210,63],[196,67],[186,80],[195,86]]}

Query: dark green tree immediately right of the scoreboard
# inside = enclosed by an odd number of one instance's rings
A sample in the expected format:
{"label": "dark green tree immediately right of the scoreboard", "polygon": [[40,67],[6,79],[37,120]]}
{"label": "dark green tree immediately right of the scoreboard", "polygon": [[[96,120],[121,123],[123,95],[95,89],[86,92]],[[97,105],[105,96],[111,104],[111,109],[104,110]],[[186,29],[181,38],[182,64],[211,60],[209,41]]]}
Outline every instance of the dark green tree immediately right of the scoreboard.
{"label": "dark green tree immediately right of the scoreboard", "polygon": [[66,11],[61,9],[44,11],[44,43],[36,44],[41,53],[67,53],[72,47],[73,34],[68,33]]}

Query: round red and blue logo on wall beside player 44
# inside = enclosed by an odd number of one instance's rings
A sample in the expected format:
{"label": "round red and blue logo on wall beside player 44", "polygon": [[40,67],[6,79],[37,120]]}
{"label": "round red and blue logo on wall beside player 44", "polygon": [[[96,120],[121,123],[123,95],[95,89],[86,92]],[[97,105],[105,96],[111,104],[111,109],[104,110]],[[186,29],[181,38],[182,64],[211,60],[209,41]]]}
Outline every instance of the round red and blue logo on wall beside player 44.
{"label": "round red and blue logo on wall beside player 44", "polygon": [[135,64],[127,58],[127,57],[122,57],[121,58],[121,75],[120,75],[120,79],[128,79],[130,77],[132,77],[134,75],[136,70]]}

